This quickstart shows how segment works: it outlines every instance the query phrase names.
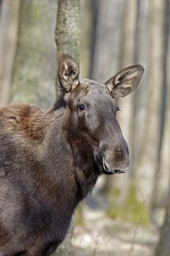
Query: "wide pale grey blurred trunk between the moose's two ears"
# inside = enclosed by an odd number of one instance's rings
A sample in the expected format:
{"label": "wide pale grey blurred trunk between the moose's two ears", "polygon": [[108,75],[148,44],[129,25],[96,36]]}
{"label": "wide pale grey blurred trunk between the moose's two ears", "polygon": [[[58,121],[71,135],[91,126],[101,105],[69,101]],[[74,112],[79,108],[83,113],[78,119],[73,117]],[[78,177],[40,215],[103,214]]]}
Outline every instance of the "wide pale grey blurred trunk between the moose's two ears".
{"label": "wide pale grey blurred trunk between the moose's two ears", "polygon": [[[91,78],[105,82],[120,70],[125,0],[99,1]],[[107,18],[106,18],[107,17]],[[114,177],[105,177],[104,191],[112,193]]]}

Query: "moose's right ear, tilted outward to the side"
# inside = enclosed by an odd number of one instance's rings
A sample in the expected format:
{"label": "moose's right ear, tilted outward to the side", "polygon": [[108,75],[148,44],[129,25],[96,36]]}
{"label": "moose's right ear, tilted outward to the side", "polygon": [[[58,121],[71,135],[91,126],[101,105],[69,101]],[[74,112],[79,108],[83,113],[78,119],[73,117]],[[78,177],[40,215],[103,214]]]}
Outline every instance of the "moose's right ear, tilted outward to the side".
{"label": "moose's right ear, tilted outward to the side", "polygon": [[136,89],[143,73],[144,68],[141,65],[126,67],[111,77],[105,85],[112,97],[125,97]]}

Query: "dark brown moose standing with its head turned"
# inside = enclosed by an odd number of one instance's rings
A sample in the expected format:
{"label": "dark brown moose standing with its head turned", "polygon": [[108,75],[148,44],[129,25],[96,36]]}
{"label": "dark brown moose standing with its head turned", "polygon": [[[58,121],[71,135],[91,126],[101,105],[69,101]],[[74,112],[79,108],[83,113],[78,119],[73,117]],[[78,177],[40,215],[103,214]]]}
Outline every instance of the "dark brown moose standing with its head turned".
{"label": "dark brown moose standing with its head turned", "polygon": [[0,256],[53,253],[98,177],[127,171],[114,98],[135,90],[143,72],[134,65],[105,84],[79,81],[77,62],[63,53],[50,110],[23,102],[0,109]]}

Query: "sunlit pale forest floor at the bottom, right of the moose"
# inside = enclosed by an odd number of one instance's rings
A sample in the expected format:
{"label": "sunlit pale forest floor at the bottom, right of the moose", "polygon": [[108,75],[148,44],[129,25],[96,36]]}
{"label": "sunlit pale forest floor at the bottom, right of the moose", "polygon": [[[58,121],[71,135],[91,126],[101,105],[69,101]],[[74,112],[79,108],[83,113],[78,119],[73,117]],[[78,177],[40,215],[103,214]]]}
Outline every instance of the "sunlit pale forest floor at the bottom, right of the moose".
{"label": "sunlit pale forest floor at the bottom, right of the moose", "polygon": [[159,239],[153,225],[142,226],[83,209],[83,226],[75,227],[71,256],[152,256]]}

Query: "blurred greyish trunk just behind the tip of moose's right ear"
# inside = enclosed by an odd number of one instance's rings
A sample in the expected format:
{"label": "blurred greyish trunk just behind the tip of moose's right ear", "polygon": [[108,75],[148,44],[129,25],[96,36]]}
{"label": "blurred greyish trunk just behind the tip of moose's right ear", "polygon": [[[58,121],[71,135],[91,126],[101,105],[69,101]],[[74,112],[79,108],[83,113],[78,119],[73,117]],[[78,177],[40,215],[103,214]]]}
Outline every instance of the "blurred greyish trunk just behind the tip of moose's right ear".
{"label": "blurred greyish trunk just behind the tip of moose's right ear", "polygon": [[147,70],[149,54],[149,0],[138,1],[138,15],[136,19],[136,39],[134,49],[134,64],[141,64],[144,67],[144,74],[139,86],[134,92],[133,102],[133,136],[132,152],[133,162],[131,163],[131,175],[135,175],[136,163],[139,158],[142,142],[144,140],[144,125],[147,113]]}

